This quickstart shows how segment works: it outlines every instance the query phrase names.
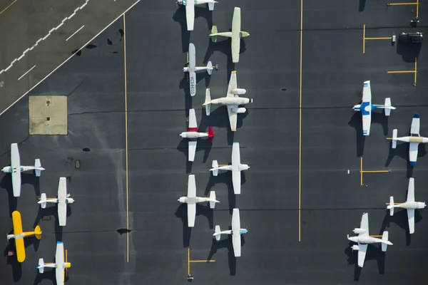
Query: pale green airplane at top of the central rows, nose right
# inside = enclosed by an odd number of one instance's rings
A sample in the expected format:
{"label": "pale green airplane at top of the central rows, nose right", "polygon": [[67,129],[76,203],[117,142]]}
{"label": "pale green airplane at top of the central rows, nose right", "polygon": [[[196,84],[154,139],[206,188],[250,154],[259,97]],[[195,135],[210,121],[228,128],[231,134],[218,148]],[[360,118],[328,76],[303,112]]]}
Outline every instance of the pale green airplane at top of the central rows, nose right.
{"label": "pale green airplane at top of the central rows, nose right", "polygon": [[213,26],[211,29],[210,36],[211,40],[215,43],[218,36],[225,36],[232,38],[232,62],[239,62],[239,51],[240,51],[240,40],[246,36],[250,36],[250,33],[240,30],[241,21],[240,21],[240,8],[235,7],[233,10],[233,19],[232,19],[232,31],[226,31],[223,33],[218,33],[217,26]]}

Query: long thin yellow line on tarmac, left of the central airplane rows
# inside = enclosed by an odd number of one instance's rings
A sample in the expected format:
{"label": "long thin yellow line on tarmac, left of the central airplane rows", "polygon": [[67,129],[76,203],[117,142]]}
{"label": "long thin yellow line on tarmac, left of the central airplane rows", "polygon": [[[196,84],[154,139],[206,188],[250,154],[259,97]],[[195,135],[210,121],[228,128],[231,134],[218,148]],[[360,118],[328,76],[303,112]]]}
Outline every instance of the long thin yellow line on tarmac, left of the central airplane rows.
{"label": "long thin yellow line on tarmac, left of the central airplane rows", "polygon": [[[125,73],[125,160],[126,160],[126,229],[129,229],[128,202],[128,89],[126,81],[126,19],[123,14],[123,63]],[[129,262],[129,231],[126,232],[126,262]]]}

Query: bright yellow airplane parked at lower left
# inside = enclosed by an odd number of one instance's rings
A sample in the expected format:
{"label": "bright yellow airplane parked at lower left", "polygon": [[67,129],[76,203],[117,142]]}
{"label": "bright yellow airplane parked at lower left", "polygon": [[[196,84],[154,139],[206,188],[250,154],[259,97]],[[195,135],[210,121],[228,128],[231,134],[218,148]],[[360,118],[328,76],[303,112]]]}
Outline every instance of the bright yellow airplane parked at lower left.
{"label": "bright yellow airplane parked at lower left", "polygon": [[21,213],[18,211],[12,212],[12,222],[14,224],[14,234],[8,234],[7,240],[15,239],[15,248],[16,248],[16,259],[18,262],[24,262],[25,260],[25,247],[24,247],[24,237],[36,237],[36,239],[41,239],[41,229],[40,226],[36,226],[34,232],[23,232],[22,231],[22,221]]}

